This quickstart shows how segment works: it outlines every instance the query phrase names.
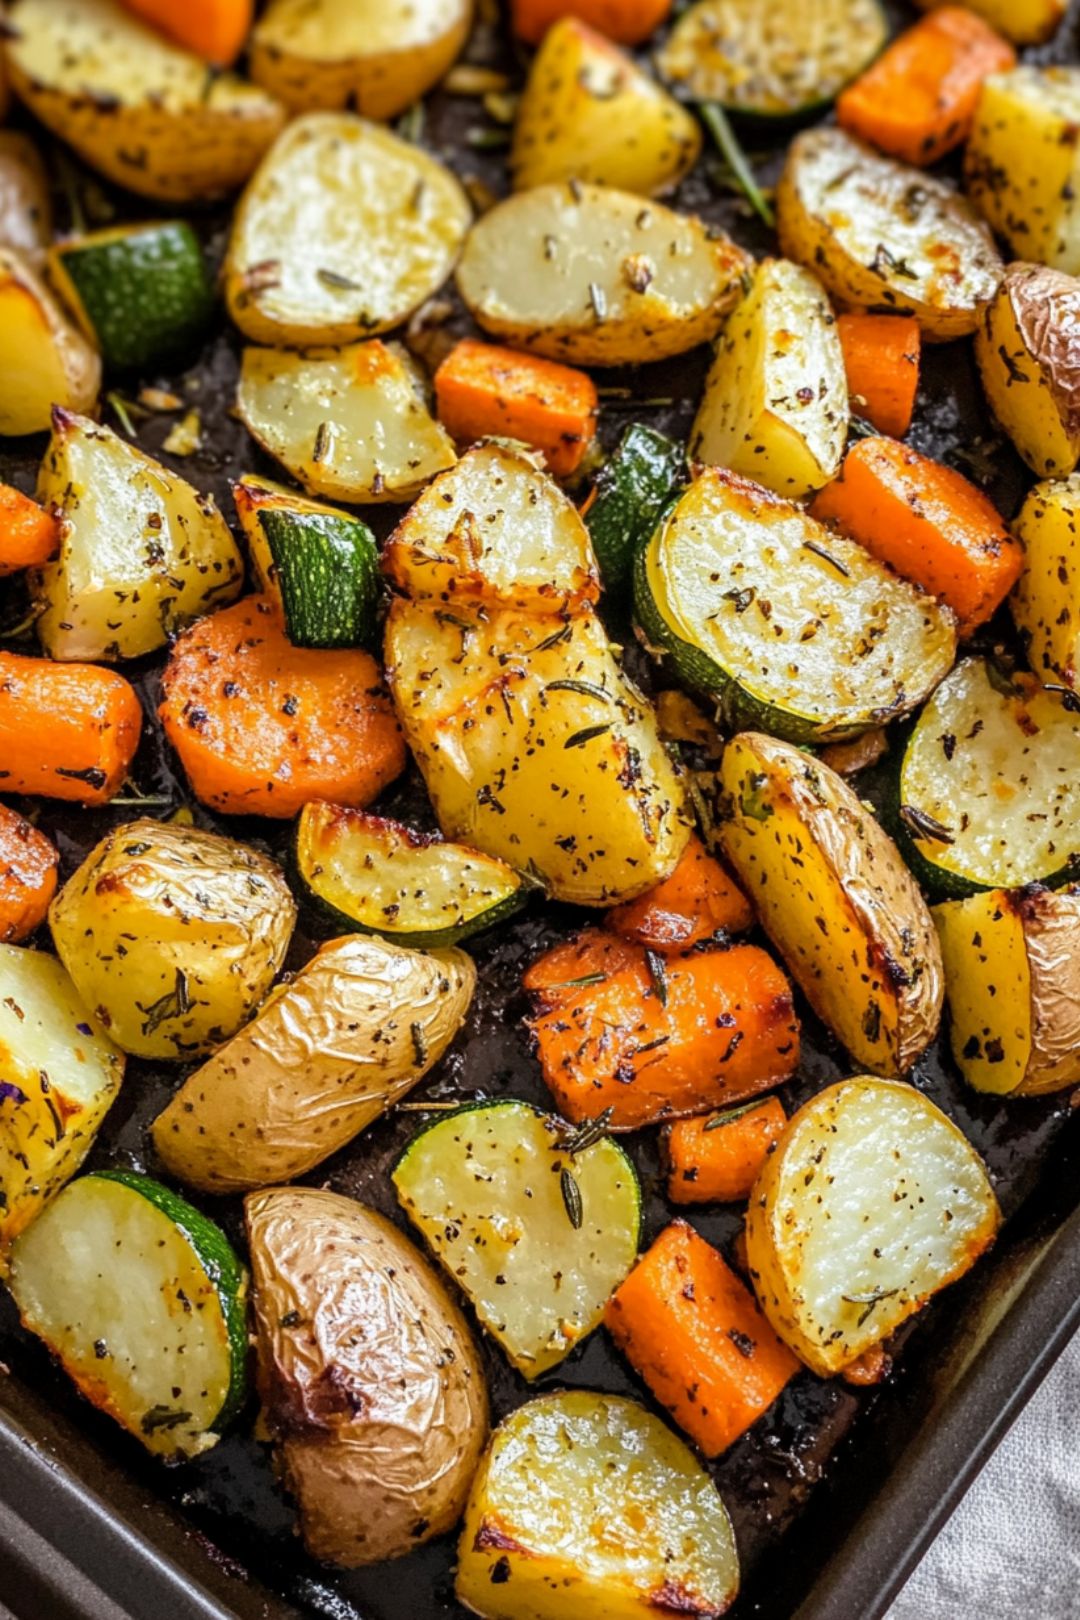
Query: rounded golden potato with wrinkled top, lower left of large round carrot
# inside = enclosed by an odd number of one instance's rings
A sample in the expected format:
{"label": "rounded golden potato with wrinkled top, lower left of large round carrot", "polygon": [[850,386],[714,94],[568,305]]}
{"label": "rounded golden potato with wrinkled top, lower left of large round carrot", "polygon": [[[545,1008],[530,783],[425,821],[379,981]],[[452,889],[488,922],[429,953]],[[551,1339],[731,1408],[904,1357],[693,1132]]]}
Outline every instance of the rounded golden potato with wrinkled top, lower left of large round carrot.
{"label": "rounded golden potato with wrinkled top, lower left of large round carrot", "polygon": [[228,1040],[274,983],[295,922],[272,860],[173,821],[113,828],[49,910],[79,995],[139,1058]]}

